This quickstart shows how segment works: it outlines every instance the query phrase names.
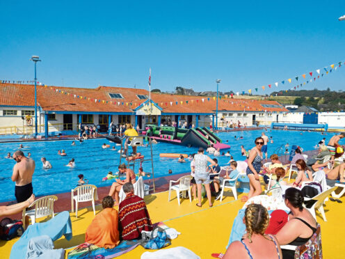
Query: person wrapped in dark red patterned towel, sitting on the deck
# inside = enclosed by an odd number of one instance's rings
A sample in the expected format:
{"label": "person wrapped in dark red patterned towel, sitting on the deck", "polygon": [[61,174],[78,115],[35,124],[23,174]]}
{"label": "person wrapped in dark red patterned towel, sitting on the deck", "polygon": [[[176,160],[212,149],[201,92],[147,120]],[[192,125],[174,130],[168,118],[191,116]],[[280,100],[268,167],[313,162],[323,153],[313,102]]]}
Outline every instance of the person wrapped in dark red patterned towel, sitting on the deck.
{"label": "person wrapped in dark red patterned towel, sitting on the deck", "polygon": [[119,205],[119,230],[122,240],[134,240],[141,237],[141,231],[151,231],[152,223],[145,201],[134,195],[133,185],[127,182],[122,189],[126,198]]}

